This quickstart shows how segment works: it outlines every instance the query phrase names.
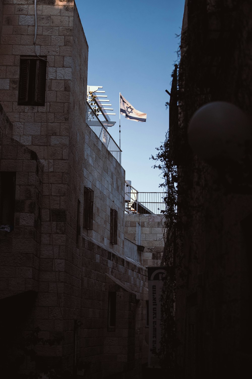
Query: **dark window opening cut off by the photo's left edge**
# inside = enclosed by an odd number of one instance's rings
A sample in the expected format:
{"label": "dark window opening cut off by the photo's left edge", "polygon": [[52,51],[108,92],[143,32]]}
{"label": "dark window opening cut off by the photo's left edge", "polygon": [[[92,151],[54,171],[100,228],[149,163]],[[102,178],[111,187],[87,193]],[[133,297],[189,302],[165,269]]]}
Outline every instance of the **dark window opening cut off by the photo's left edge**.
{"label": "dark window opening cut off by the photo's left edge", "polygon": [[15,172],[0,173],[0,226],[9,225],[14,228],[15,212]]}

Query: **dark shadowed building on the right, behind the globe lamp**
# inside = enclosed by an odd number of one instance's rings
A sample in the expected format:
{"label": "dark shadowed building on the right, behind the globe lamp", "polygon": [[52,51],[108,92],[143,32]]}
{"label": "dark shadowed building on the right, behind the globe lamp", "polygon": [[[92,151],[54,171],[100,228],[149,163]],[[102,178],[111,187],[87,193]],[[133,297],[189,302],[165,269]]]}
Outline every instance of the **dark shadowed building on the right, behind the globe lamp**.
{"label": "dark shadowed building on the right, behind the globe lamp", "polygon": [[[237,106],[251,120],[251,19],[245,0],[185,5],[170,109],[170,158],[178,167],[173,263],[181,378],[245,377],[251,362],[251,144],[239,160],[238,146],[229,156],[228,147],[216,156],[212,147],[212,157],[203,159],[187,139],[193,114],[214,101]],[[214,129],[216,104],[210,106]],[[229,114],[224,119],[232,124]]]}

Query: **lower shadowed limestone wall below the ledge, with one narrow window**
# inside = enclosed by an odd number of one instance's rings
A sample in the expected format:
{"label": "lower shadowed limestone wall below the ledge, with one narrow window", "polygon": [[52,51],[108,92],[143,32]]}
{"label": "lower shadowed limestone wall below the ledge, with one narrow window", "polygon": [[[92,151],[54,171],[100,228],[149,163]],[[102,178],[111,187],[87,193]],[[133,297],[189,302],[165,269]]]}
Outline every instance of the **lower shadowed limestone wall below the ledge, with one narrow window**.
{"label": "lower shadowed limestone wall below the ledge, with one narrow window", "polygon": [[[83,246],[80,360],[90,363],[85,377],[139,377],[147,362],[147,270],[84,238]],[[113,331],[107,324],[108,291],[116,291]]]}

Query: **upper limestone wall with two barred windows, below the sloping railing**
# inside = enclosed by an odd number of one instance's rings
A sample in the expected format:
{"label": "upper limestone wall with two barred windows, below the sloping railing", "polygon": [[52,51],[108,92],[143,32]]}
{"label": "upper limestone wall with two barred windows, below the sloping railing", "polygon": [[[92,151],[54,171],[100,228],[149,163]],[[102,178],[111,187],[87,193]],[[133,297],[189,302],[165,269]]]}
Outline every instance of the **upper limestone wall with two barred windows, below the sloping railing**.
{"label": "upper limestone wall with two barred windows, below the sloping railing", "polygon": [[[125,171],[88,125],[84,177],[94,191],[94,221],[93,230],[83,229],[83,235],[123,255]],[[110,243],[110,209],[117,210],[116,245]]]}

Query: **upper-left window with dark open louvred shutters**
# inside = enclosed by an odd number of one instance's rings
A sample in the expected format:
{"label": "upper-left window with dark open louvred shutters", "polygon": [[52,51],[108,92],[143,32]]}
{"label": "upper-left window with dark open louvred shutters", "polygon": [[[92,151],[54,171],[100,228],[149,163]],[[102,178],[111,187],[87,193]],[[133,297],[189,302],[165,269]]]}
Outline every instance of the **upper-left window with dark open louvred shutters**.
{"label": "upper-left window with dark open louvred shutters", "polygon": [[46,61],[20,58],[19,105],[45,105]]}

